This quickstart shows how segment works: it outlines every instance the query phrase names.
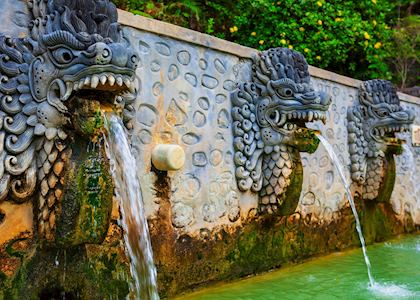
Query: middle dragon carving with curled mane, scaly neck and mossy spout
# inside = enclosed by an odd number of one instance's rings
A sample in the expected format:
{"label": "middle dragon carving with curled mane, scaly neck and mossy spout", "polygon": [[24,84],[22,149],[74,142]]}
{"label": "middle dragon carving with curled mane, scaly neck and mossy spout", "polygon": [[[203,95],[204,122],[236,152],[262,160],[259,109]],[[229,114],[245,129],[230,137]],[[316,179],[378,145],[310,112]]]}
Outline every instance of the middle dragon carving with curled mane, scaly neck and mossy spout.
{"label": "middle dragon carving with curled mane, scaly neck and mossy spout", "polygon": [[261,212],[291,214],[296,209],[299,195],[286,191],[290,187],[300,193],[299,152],[312,153],[319,143],[305,123],[325,121],[330,102],[313,89],[303,55],[286,48],[260,53],[252,82],[233,92],[237,183],[242,191],[259,192]]}

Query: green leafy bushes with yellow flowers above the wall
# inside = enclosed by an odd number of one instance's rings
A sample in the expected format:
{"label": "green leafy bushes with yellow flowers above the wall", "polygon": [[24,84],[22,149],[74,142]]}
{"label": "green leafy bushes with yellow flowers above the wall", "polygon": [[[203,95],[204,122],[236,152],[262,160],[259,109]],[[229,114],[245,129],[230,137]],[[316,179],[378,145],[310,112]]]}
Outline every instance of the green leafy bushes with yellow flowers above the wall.
{"label": "green leafy bushes with yellow flowers above the wall", "polygon": [[[248,47],[290,47],[359,79],[392,79],[394,30],[410,0],[128,0],[139,13]],[[408,13],[409,14],[409,13]],[[401,76],[394,76],[397,77]]]}

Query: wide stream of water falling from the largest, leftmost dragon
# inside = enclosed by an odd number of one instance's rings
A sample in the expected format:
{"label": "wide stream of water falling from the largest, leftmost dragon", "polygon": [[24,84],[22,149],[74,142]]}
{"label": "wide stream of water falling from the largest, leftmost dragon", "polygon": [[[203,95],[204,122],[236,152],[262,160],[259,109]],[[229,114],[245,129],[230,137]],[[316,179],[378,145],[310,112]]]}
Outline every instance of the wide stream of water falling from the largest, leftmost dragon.
{"label": "wide stream of water falling from the largest, leftmost dragon", "polygon": [[105,138],[106,149],[116,195],[120,201],[124,240],[131,260],[136,296],[137,299],[159,299],[156,267],[137,178],[137,164],[131,154],[121,119],[111,115],[107,123],[109,134]]}

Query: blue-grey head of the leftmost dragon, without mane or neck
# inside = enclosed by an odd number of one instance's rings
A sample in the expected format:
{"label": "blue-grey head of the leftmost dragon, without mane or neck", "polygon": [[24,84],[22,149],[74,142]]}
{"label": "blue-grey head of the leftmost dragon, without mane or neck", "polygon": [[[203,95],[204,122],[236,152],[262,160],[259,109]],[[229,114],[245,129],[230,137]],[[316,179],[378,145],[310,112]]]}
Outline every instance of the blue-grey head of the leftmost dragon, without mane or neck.
{"label": "blue-grey head of the leftmost dragon, without mane or neck", "polygon": [[115,5],[108,0],[35,0],[29,5],[34,100],[66,114],[76,96],[130,115],[139,58],[122,35]]}

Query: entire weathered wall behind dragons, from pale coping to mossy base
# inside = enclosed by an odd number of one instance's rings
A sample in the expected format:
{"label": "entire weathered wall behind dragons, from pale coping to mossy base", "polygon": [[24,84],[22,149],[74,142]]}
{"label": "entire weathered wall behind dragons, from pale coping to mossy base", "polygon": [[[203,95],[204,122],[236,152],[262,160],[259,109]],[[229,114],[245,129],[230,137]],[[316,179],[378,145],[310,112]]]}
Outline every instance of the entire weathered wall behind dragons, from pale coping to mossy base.
{"label": "entire weathered wall behind dragons, from pale coping to mossy base", "polygon": [[[343,185],[322,146],[302,154],[303,186],[292,216],[255,217],[258,195],[237,188],[230,92],[250,79],[254,49],[126,12],[120,21],[142,60],[133,146],[162,295],[359,244]],[[332,104],[326,125],[309,127],[332,144],[350,180],[347,109],[357,103],[361,82],[314,67],[310,73]],[[418,115],[420,99],[399,96]],[[411,145],[409,134],[403,138]],[[182,169],[152,167],[151,152],[160,143],[183,147]],[[369,243],[420,225],[420,151],[409,148],[397,158],[392,205],[356,197]]]}

